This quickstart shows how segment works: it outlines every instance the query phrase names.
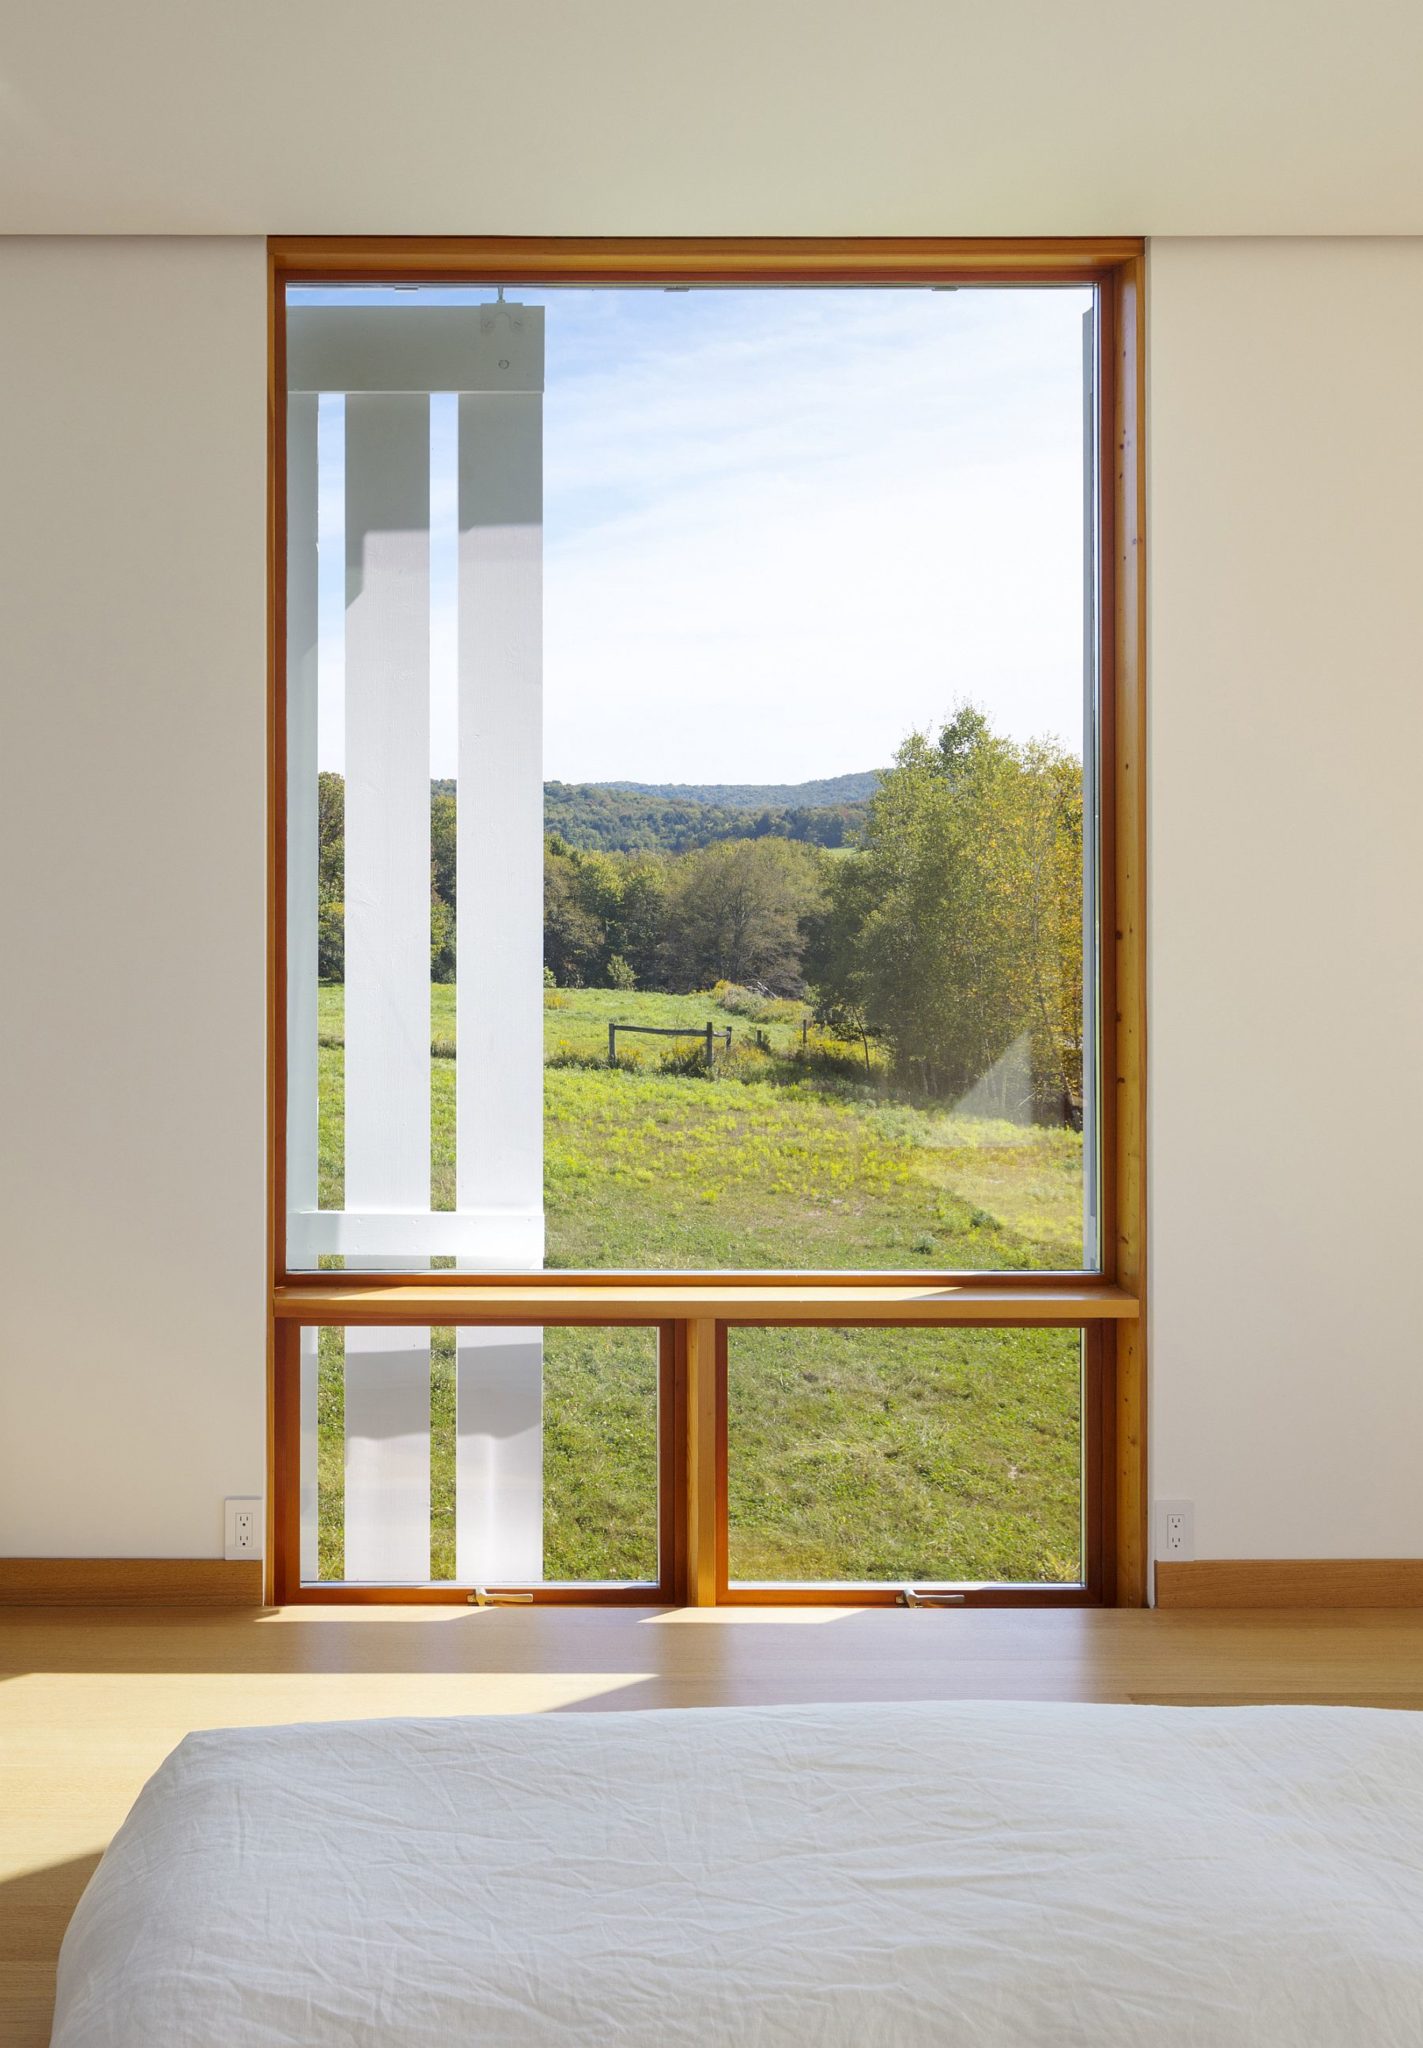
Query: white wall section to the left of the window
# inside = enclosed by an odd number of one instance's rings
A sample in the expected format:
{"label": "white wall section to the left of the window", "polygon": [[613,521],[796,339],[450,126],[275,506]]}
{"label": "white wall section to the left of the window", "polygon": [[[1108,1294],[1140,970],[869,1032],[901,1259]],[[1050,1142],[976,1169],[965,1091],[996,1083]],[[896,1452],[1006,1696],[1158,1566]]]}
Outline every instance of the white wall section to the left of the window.
{"label": "white wall section to the left of the window", "polygon": [[0,242],[0,1554],[264,1489],[258,242]]}

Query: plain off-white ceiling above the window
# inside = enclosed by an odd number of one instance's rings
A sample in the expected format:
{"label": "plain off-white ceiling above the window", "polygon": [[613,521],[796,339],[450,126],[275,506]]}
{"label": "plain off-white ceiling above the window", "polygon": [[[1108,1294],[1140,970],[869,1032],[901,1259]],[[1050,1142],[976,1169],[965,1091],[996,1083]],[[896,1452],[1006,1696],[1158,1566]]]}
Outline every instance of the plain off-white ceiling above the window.
{"label": "plain off-white ceiling above the window", "polygon": [[1419,0],[4,0],[12,233],[1423,233]]}

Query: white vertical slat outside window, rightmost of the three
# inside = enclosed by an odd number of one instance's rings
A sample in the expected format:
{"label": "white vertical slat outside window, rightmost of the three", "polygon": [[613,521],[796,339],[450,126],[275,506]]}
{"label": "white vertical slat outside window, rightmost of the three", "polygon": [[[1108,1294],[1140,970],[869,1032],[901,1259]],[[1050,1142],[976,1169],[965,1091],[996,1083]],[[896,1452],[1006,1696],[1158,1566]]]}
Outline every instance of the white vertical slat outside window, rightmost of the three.
{"label": "white vertical slat outside window, rightmost of the three", "polygon": [[[459,401],[459,1264],[543,1266],[543,311]],[[457,1575],[543,1577],[543,1337],[457,1337]]]}

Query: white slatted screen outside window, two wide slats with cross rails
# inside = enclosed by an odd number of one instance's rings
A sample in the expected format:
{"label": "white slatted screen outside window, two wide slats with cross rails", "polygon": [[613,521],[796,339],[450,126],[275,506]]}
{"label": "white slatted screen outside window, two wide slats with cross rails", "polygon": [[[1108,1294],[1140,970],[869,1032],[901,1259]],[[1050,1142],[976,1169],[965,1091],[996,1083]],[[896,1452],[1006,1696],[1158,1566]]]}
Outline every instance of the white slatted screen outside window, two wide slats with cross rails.
{"label": "white slatted screen outside window, two wide slats with cross rails", "polygon": [[[543,1264],[543,313],[295,307],[346,393],[346,1202],[309,1257]],[[461,397],[457,1212],[430,1214],[428,393]],[[293,1198],[293,1210],[299,1204]],[[346,1577],[430,1571],[428,1331],[346,1337]],[[459,1575],[543,1573],[543,1343],[459,1343]]]}

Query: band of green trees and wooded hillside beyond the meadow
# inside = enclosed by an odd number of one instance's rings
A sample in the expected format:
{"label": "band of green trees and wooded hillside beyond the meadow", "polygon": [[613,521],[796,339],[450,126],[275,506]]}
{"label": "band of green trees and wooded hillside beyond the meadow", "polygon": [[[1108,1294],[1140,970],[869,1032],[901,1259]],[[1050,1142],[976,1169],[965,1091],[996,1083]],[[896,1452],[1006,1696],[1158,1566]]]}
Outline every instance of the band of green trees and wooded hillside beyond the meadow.
{"label": "band of green trees and wooded hillside beyond the meadow", "polygon": [[[839,838],[790,827],[842,811],[749,803],[799,788],[549,784],[549,979],[561,989],[674,995],[733,983],[809,1001],[825,1028],[864,1049],[866,1067],[874,1044],[897,1083],[932,1098],[962,1100],[1018,1047],[1034,1114],[1073,1120],[1083,1057],[1081,764],[1048,741],[1007,741],[960,707],[938,735],[905,739],[882,774],[819,788],[862,780],[874,782],[872,795],[842,807],[854,825]],[[430,799],[430,977],[448,983],[452,784],[434,782]],[[340,776],[324,774],[326,981],[344,971],[342,813]],[[635,836],[643,829],[647,838]],[[833,846],[842,852],[827,852]]]}

